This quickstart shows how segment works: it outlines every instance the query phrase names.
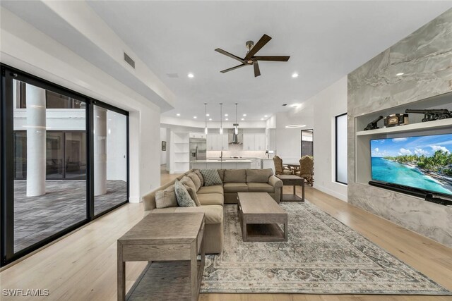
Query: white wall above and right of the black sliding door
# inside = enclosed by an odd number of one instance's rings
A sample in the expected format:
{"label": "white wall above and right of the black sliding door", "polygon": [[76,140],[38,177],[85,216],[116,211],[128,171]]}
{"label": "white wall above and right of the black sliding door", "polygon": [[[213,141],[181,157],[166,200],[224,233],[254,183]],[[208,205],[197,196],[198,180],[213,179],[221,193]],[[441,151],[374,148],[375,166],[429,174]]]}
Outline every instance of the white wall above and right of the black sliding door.
{"label": "white wall above and right of the black sliding door", "polygon": [[129,111],[130,201],[139,202],[141,195],[160,186],[160,145],[155,143],[160,140],[160,108],[154,99],[115,80],[5,8],[0,13],[1,62]]}

